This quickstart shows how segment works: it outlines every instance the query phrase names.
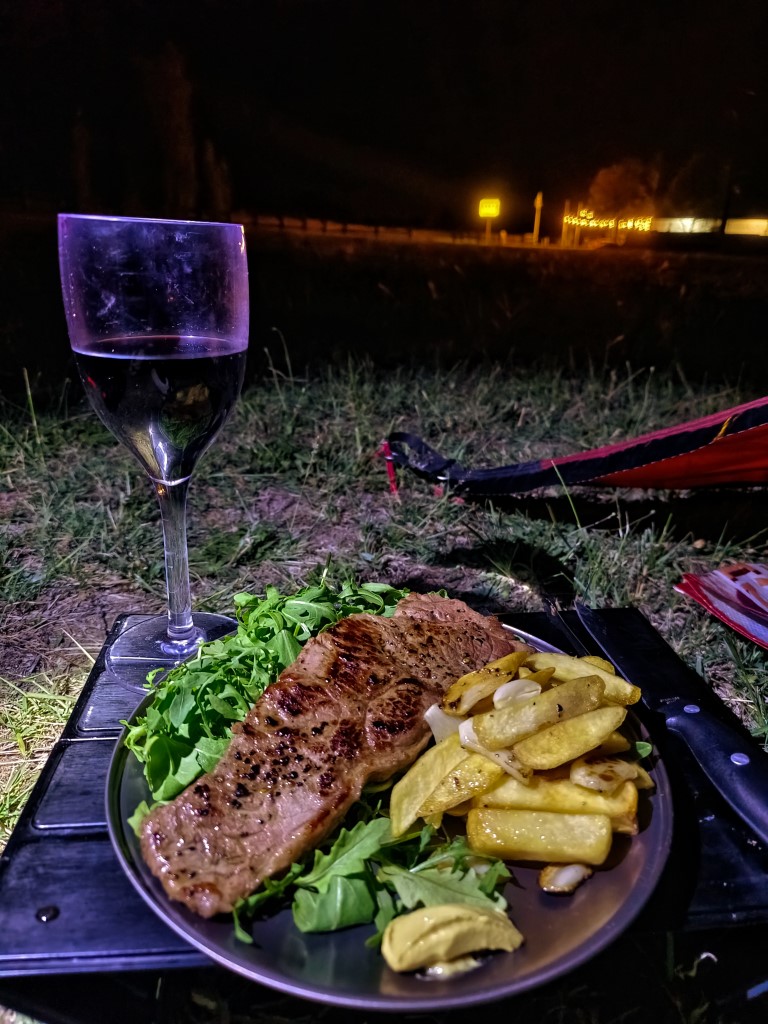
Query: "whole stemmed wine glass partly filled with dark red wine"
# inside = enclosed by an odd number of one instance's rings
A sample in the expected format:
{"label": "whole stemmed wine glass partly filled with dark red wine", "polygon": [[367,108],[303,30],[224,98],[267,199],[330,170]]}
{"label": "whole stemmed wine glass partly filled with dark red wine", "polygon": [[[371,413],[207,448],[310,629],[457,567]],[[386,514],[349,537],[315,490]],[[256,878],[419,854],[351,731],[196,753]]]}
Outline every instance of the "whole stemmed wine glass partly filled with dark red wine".
{"label": "whole stemmed wine glass partly filled with dark red wine", "polygon": [[240,224],[60,214],[70,342],[90,402],[150,476],[160,503],[168,613],[123,630],[109,667],[178,665],[237,623],[191,611],[186,494],[234,406],[248,347]]}

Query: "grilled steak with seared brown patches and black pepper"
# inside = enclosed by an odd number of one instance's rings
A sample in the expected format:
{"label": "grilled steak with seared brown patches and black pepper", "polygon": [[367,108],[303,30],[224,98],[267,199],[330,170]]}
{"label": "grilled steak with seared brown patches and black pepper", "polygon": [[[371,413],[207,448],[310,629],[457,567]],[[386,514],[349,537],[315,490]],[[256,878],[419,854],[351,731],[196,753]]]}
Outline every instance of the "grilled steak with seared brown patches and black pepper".
{"label": "grilled steak with seared brown patches and black pepper", "polygon": [[411,594],[389,618],[350,615],[309,640],[234,725],[216,768],[142,824],[167,894],[227,911],[316,846],[359,798],[426,746],[451,683],[521,645],[461,601]]}

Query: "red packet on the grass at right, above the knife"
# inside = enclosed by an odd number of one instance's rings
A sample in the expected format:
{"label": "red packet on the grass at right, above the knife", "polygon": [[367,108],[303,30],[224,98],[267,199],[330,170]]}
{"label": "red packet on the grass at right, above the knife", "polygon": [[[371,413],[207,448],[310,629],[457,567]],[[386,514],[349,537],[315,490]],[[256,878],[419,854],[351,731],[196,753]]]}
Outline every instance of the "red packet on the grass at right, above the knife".
{"label": "red packet on the grass at right, above the knife", "polygon": [[675,590],[768,648],[768,566],[737,562],[700,575],[686,572]]}

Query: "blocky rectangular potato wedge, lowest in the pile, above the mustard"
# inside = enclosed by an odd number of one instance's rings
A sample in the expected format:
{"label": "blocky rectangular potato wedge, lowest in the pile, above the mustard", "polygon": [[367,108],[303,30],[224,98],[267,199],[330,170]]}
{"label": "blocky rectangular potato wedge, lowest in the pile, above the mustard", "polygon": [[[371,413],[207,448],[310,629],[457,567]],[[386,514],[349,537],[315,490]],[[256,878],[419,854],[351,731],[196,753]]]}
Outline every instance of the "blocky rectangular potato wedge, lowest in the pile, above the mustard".
{"label": "blocky rectangular potato wedge, lowest in the pile, above the mustard", "polygon": [[476,807],[467,815],[470,847],[504,860],[602,864],[610,851],[611,835],[607,814]]}

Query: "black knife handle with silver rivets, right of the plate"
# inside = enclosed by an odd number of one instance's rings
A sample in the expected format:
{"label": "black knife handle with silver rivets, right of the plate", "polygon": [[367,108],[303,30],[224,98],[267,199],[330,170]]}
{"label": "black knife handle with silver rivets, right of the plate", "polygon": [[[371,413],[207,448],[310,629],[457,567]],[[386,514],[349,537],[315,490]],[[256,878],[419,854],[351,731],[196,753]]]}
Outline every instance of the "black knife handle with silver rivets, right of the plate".
{"label": "black knife handle with silver rivets, right of the plate", "polygon": [[751,753],[737,729],[697,703],[668,711],[666,721],[768,849],[768,757]]}

